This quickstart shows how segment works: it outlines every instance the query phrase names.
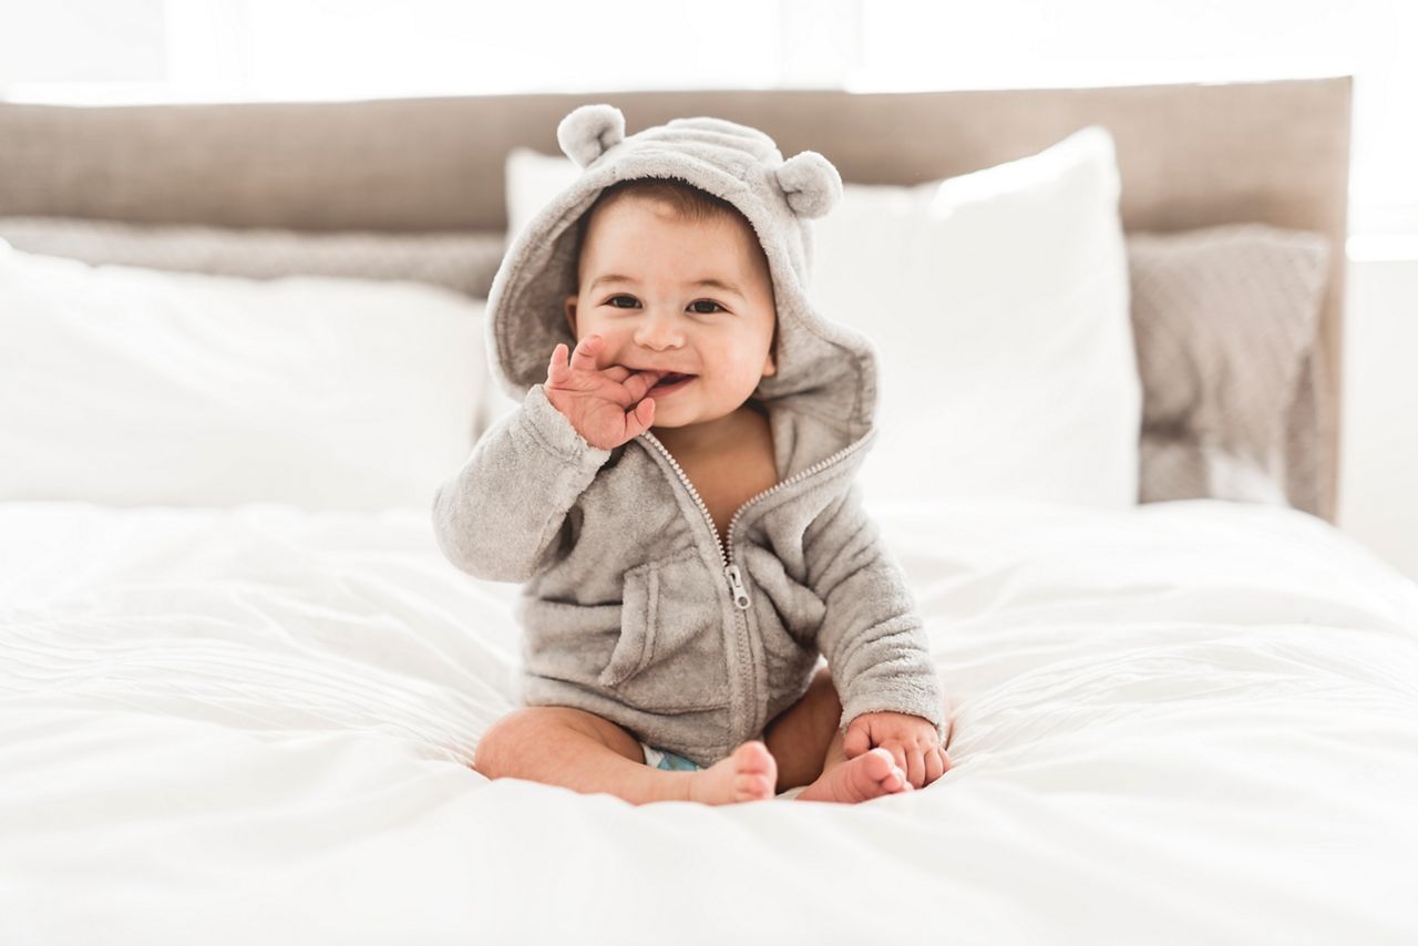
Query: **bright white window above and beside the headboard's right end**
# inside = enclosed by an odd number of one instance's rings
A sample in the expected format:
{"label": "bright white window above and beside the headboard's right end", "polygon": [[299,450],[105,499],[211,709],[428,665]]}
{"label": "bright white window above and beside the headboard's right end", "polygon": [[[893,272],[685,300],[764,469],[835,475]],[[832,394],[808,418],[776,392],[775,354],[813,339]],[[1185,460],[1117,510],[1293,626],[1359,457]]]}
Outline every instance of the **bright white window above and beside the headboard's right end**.
{"label": "bright white window above and beside the headboard's right end", "polygon": [[1418,4],[1408,0],[864,0],[861,37],[848,88],[1350,74],[1350,230],[1418,235]]}

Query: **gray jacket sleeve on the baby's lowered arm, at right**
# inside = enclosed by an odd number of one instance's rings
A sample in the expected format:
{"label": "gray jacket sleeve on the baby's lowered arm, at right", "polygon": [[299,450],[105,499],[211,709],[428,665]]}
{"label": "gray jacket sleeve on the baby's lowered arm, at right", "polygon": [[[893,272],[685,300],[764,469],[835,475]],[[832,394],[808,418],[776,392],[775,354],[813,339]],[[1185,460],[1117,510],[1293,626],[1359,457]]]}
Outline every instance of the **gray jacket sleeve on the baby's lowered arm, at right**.
{"label": "gray jacket sleeve on the baby's lowered arm, at right", "polygon": [[929,719],[946,738],[943,689],[906,576],[854,484],[813,522],[808,577],[827,604],[818,648],[842,699],[842,730],[862,713]]}

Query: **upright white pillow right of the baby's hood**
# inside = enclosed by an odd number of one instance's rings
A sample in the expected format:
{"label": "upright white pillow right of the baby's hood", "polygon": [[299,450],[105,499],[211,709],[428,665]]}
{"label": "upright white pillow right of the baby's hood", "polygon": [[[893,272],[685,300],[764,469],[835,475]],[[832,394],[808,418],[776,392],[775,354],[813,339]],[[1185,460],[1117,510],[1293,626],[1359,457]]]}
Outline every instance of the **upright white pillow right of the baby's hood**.
{"label": "upright white pillow right of the baby's hood", "polygon": [[1137,503],[1141,382],[1113,139],[916,187],[848,184],[811,298],[881,356],[868,499]]}

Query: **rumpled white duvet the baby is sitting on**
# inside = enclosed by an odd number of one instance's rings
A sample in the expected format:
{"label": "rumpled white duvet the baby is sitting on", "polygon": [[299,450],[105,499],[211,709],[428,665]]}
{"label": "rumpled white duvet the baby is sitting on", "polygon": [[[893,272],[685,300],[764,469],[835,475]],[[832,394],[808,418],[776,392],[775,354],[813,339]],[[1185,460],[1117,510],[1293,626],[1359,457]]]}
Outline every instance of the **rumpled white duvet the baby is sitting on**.
{"label": "rumpled white duvet the baby is sitting on", "polygon": [[1282,508],[879,518],[954,769],[708,808],[468,767],[516,589],[423,509],[0,503],[0,943],[1418,942],[1418,586]]}

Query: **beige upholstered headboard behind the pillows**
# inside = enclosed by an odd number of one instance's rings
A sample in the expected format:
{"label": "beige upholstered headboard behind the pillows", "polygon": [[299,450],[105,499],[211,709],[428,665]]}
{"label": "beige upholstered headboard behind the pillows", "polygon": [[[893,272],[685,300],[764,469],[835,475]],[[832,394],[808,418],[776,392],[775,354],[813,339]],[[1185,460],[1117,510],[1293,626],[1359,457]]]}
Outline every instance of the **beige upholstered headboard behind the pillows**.
{"label": "beige upholstered headboard behind the pillows", "polygon": [[1106,126],[1127,230],[1263,221],[1330,237],[1317,512],[1334,519],[1351,78],[910,94],[674,91],[363,102],[0,104],[0,216],[298,230],[501,230],[503,159],[556,153],[576,105],[631,132],[681,115],[756,125],[848,182],[917,183]]}

